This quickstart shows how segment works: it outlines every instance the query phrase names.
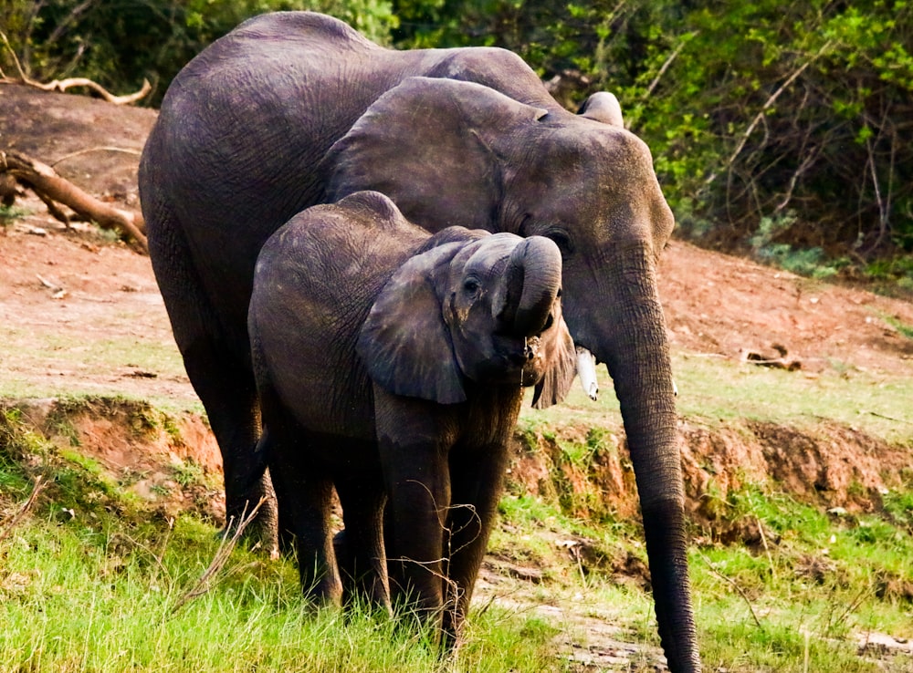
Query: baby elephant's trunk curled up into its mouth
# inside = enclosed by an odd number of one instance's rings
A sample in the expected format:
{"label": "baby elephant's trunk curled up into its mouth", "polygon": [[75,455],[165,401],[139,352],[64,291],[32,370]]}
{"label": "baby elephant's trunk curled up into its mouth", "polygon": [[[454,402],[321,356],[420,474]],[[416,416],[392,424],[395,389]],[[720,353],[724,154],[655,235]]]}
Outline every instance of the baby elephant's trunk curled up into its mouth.
{"label": "baby elephant's trunk curled up into its mouth", "polygon": [[510,254],[507,295],[498,320],[515,336],[535,336],[549,326],[561,290],[561,251],[550,239],[532,236]]}

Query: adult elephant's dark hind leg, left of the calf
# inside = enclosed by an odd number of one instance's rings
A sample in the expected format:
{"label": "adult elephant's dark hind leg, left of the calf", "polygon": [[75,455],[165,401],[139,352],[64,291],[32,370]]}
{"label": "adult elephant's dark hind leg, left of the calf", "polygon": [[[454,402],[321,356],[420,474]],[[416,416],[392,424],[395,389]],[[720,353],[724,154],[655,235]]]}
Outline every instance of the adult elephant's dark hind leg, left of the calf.
{"label": "adult elephant's dark hind leg, left of the calf", "polygon": [[[154,209],[154,193],[149,200]],[[233,341],[225,336],[200,282],[181,226],[161,206],[157,219],[159,224],[149,237],[153,270],[187,376],[203,402],[222,453],[226,520],[240,521],[243,513],[250,513],[265,498],[256,520],[247,526],[246,536],[262,541],[272,551],[278,514],[265,472],[266,462],[254,450],[260,419],[257,390],[246,359],[247,331]]]}

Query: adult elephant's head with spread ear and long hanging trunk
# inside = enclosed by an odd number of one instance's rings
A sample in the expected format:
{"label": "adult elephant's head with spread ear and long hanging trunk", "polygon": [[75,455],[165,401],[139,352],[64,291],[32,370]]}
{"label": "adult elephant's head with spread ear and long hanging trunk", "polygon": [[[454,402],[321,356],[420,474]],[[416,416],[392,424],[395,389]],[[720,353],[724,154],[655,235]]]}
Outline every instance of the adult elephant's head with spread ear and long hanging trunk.
{"label": "adult elephant's head with spread ear and long hanging trunk", "polygon": [[328,157],[328,198],[374,189],[431,231],[550,238],[573,340],[608,366],[635,468],[659,633],[673,671],[699,670],[684,490],[656,262],[673,228],[645,143],[612,100],[582,115],[469,82],[410,78]]}

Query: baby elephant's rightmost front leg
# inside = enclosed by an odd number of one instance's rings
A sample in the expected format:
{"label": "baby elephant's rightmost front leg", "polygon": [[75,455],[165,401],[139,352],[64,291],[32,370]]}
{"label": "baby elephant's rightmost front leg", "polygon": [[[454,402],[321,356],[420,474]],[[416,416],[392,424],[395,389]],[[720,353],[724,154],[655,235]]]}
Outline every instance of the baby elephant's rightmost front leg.
{"label": "baby elephant's rightmost front leg", "polygon": [[445,557],[449,558],[445,585],[444,640],[447,647],[458,641],[467,616],[478,569],[488,548],[488,537],[498,513],[506,445],[487,446],[471,456],[452,456],[450,479],[452,504],[447,517]]}

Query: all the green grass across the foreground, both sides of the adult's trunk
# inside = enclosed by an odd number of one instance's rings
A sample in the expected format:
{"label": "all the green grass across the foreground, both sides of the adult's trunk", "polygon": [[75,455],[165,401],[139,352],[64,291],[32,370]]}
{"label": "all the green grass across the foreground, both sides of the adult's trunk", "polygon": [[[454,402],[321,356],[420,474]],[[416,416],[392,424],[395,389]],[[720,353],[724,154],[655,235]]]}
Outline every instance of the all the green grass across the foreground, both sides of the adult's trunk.
{"label": "all the green grass across the foreground, both sides of the adult's trunk", "polygon": [[[599,647],[580,623],[477,606],[465,647],[442,661],[427,632],[363,609],[317,610],[299,595],[293,564],[244,549],[175,612],[215,555],[215,528],[150,511],[77,448],[51,447],[20,420],[8,411],[0,424],[0,513],[26,499],[36,472],[51,485],[0,542],[0,671],[562,671],[573,668],[558,643]],[[604,440],[590,433],[582,445]],[[193,467],[184,478],[194,479]],[[720,508],[727,521],[760,522],[769,547],[699,537],[693,546],[706,668],[879,670],[858,655],[860,637],[913,637],[904,593],[913,585],[913,490],[889,495],[884,513],[837,515],[770,486],[730,492]],[[645,557],[635,521],[578,519],[517,493],[500,512],[491,551],[546,570],[544,584],[526,587],[533,603],[571,602],[613,624],[615,638],[657,645],[649,594],[614,575],[624,554]],[[561,546],[568,539],[586,545],[582,564]],[[649,670],[637,657],[633,669]],[[913,670],[903,658],[891,667]]]}

